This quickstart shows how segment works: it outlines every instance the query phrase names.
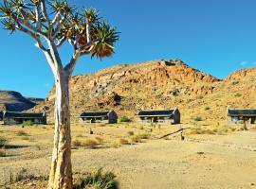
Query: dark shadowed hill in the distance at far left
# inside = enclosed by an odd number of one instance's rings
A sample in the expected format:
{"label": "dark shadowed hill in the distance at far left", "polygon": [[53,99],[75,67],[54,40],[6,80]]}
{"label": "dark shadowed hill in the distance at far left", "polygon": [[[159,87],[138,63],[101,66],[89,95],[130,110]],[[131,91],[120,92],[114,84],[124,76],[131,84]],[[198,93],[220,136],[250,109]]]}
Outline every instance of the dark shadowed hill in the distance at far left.
{"label": "dark shadowed hill in the distance at far left", "polygon": [[21,112],[33,108],[37,103],[13,91],[0,91],[0,111]]}

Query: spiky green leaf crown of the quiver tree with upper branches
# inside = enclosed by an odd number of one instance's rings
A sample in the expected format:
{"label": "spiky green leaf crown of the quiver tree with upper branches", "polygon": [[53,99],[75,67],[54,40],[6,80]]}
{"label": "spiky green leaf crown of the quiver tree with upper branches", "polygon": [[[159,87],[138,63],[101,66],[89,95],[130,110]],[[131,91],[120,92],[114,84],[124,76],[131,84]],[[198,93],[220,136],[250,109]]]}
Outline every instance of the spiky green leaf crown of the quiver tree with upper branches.
{"label": "spiky green leaf crown of the quiver tree with upper branches", "polygon": [[42,50],[49,41],[58,48],[70,43],[73,57],[109,57],[119,40],[119,32],[102,21],[97,9],[78,9],[66,0],[3,0],[0,18],[10,34],[23,31]]}

